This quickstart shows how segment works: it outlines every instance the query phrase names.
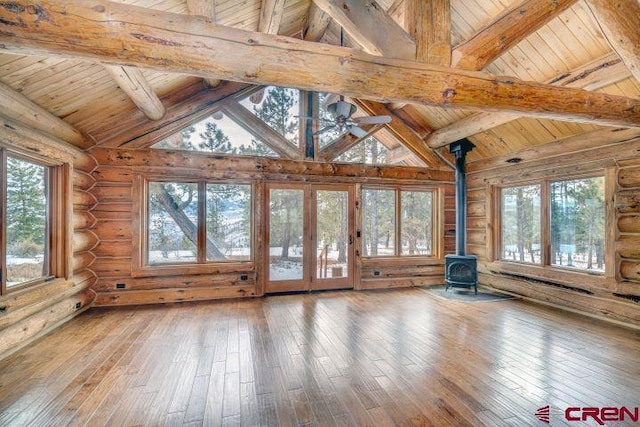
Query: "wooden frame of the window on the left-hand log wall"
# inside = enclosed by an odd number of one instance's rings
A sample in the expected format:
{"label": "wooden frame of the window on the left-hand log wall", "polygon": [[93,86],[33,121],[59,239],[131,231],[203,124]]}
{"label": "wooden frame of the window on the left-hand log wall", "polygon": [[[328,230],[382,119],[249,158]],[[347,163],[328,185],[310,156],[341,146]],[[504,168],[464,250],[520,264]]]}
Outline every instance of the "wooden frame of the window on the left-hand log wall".
{"label": "wooden frame of the window on the left-hand log wall", "polygon": [[[7,159],[16,158],[47,168],[46,239],[48,274],[37,279],[7,287],[6,217]],[[7,295],[33,286],[71,277],[71,165],[51,161],[32,153],[0,147],[0,295]]]}

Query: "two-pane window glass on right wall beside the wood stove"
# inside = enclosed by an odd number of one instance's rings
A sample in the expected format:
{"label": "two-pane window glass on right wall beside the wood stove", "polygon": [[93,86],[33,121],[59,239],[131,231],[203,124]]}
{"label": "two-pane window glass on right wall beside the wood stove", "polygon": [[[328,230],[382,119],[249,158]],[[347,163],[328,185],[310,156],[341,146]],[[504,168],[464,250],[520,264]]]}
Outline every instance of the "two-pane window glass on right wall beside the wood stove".
{"label": "two-pane window glass on right wall beside the wood stove", "polygon": [[604,272],[604,199],[603,177],[502,188],[500,259]]}

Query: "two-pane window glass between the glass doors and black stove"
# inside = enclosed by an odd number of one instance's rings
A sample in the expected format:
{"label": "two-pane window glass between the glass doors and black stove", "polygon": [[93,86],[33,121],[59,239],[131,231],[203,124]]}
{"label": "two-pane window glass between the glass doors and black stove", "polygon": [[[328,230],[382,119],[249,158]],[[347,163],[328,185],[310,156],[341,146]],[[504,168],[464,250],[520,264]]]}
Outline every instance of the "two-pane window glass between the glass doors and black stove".
{"label": "two-pane window glass between the glass doors and black stove", "polygon": [[434,191],[363,189],[363,255],[434,254]]}

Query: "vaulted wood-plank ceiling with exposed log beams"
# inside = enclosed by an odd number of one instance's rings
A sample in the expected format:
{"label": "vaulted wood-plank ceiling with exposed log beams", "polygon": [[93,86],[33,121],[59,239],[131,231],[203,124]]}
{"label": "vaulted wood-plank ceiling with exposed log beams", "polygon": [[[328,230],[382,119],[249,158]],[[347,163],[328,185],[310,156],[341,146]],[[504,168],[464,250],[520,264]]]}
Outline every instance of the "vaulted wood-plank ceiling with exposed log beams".
{"label": "vaulted wood-plank ceiling with exposed log beams", "polygon": [[82,148],[148,146],[253,84],[391,115],[409,164],[640,135],[638,0],[17,0],[0,47],[0,115]]}

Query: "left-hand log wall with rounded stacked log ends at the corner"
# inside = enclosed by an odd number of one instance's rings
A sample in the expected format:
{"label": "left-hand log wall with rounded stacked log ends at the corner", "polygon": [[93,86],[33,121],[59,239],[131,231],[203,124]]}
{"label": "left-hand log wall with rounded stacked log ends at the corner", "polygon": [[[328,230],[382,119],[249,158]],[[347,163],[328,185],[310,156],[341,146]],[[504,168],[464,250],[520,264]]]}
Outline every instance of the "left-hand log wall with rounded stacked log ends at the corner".
{"label": "left-hand log wall with rounded stacked log ends at the corner", "polygon": [[0,147],[39,153],[43,159],[64,165],[65,183],[55,196],[64,205],[61,209],[64,218],[62,225],[53,225],[52,232],[64,234],[62,262],[67,265],[66,277],[0,295],[0,358],[4,358],[77,316],[95,298],[91,286],[96,275],[91,264],[97,238],[90,231],[95,224],[91,214],[95,200],[89,190],[94,184],[91,172],[97,163],[93,157],[50,135],[2,117],[0,122],[8,124],[0,126]]}

